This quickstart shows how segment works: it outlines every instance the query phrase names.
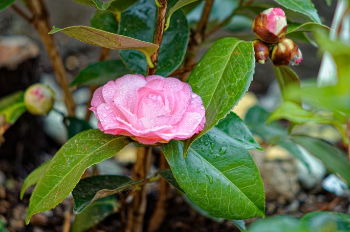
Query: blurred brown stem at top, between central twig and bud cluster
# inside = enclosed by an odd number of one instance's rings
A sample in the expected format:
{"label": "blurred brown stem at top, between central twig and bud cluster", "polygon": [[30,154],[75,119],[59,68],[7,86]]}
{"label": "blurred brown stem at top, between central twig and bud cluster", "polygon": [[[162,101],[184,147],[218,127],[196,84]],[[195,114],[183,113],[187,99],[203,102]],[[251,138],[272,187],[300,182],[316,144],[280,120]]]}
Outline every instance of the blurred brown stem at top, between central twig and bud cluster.
{"label": "blurred brown stem at top, between central twig and bud cluster", "polygon": [[[185,61],[185,66],[195,64],[196,55],[200,48],[201,43],[205,39],[205,29],[207,27],[209,14],[213,5],[213,0],[206,0],[205,6],[203,9],[202,17],[198,22],[197,30],[194,34],[191,35],[190,42],[188,43],[187,52],[190,56]],[[186,82],[190,72],[186,72],[181,81]]]}

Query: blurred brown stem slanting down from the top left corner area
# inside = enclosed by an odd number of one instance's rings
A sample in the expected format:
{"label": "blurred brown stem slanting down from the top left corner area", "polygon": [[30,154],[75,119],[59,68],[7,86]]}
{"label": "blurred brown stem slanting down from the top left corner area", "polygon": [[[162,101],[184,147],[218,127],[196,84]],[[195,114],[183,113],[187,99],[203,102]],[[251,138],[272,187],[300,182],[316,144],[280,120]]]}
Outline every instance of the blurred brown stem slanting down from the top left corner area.
{"label": "blurred brown stem slanting down from the top left corner area", "polygon": [[32,24],[40,35],[43,45],[45,46],[49,59],[56,74],[57,82],[60,85],[64,94],[64,103],[67,106],[68,115],[74,116],[75,103],[73,94],[68,86],[67,72],[64,69],[62,59],[58,53],[58,48],[50,32],[50,23],[48,11],[43,3],[43,0],[27,1],[29,11],[33,15]]}

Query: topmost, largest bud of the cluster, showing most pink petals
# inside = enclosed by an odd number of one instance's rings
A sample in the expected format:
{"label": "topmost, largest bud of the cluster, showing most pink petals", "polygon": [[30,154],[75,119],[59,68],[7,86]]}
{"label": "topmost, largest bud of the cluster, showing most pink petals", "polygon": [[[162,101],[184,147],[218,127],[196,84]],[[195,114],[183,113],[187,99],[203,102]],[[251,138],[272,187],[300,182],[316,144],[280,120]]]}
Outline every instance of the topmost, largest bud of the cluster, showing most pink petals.
{"label": "topmost, largest bud of the cluster, showing most pink petals", "polygon": [[287,18],[280,8],[269,8],[261,12],[253,21],[253,31],[261,41],[278,43],[285,38]]}

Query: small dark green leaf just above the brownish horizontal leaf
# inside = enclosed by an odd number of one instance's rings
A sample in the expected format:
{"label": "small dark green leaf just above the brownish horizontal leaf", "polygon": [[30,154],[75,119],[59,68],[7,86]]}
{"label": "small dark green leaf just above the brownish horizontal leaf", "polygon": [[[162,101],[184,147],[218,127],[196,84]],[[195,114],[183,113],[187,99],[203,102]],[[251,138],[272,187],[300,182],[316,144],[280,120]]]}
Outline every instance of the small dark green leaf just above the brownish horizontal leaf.
{"label": "small dark green leaf just above the brownish horizontal leaf", "polygon": [[105,32],[118,34],[116,16],[108,11],[96,11],[90,20],[91,27]]}

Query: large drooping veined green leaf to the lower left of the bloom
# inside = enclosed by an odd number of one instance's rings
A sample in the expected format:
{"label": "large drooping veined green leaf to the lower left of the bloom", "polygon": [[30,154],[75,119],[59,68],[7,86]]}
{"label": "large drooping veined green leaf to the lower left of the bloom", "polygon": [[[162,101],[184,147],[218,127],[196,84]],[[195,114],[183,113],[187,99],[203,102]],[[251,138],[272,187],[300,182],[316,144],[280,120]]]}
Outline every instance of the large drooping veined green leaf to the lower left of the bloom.
{"label": "large drooping veined green leaf to the lower left of the bloom", "polygon": [[68,140],[37,182],[30,197],[26,223],[34,214],[54,208],[67,197],[87,168],[113,157],[129,143],[127,137],[107,135],[97,129]]}

